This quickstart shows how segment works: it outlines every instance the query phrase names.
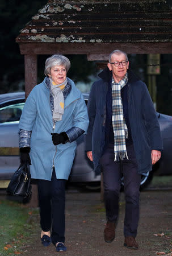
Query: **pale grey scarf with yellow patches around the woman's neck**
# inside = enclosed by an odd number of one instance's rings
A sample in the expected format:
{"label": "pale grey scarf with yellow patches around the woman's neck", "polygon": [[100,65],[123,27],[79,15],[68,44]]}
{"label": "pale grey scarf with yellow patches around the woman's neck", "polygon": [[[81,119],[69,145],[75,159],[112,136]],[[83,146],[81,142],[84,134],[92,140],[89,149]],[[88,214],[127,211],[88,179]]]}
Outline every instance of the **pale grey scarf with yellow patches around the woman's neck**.
{"label": "pale grey scarf with yellow patches around the woman's neck", "polygon": [[56,121],[61,121],[62,115],[64,114],[64,95],[63,90],[65,89],[68,80],[66,79],[62,84],[54,84],[51,78],[51,91],[54,97],[54,110],[53,110],[53,119]]}

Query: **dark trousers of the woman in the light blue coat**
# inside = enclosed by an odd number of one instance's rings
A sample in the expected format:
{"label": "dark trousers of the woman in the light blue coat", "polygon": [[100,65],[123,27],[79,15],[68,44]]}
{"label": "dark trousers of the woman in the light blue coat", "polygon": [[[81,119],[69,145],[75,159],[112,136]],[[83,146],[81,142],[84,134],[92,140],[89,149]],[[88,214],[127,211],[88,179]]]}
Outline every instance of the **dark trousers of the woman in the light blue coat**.
{"label": "dark trousers of the woman in the light blue coat", "polygon": [[65,183],[66,180],[56,179],[54,170],[51,181],[37,181],[41,229],[48,232],[52,228],[54,245],[65,242]]}

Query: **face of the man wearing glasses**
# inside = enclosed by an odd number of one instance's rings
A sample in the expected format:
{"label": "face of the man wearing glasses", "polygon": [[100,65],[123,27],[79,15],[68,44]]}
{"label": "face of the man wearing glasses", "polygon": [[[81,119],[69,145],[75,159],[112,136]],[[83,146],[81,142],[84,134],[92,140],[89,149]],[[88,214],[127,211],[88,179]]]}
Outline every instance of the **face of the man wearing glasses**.
{"label": "face of the man wearing glasses", "polygon": [[[111,62],[115,62],[115,61],[120,62],[124,60],[126,60],[124,53],[121,53],[120,55],[116,55],[114,53],[111,57]],[[114,64],[110,64],[110,63],[107,64],[107,67],[110,69],[110,71],[112,71],[112,75],[114,77],[115,82],[119,82],[123,79],[123,77],[127,73],[128,66],[129,66],[129,62],[127,63],[126,66],[120,63],[118,67],[115,67]]]}

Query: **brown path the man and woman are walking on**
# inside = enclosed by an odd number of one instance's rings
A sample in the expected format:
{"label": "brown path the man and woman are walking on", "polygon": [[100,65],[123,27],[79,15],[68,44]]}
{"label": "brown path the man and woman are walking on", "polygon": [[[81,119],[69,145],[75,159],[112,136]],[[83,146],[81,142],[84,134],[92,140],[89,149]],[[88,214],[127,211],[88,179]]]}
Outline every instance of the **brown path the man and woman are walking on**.
{"label": "brown path the man and woman are walking on", "polygon": [[[139,250],[129,250],[123,246],[123,220],[125,201],[120,197],[120,217],[116,228],[116,238],[112,243],[103,239],[106,217],[104,204],[100,202],[98,192],[79,192],[69,189],[66,192],[66,246],[69,256],[125,256],[156,255],[157,252],[169,253],[172,249],[172,191],[145,191],[140,198],[140,223],[137,242]],[[39,216],[30,240],[23,246],[24,255],[57,255],[53,245],[43,247],[40,243]],[[164,233],[164,236],[154,234]],[[170,254],[169,254],[170,255]]]}

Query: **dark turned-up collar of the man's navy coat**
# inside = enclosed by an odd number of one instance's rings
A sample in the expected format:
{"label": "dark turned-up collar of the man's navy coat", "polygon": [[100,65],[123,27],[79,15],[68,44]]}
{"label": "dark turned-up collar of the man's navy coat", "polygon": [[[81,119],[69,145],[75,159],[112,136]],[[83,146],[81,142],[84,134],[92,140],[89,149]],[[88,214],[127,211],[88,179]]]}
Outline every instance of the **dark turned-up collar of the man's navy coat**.
{"label": "dark turned-up collar of the man's navy coat", "polygon": [[[127,71],[128,73],[128,81],[129,82],[136,82],[136,81],[139,81],[139,77],[137,77],[135,75],[135,73],[133,73],[133,71],[131,69],[128,69]],[[103,69],[102,72],[99,73],[98,75],[102,80],[106,81],[106,82],[109,82],[111,81],[112,79],[112,71],[110,71],[108,69],[108,67],[106,67],[105,69]]]}

